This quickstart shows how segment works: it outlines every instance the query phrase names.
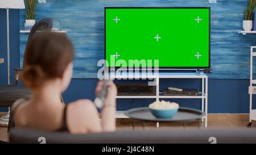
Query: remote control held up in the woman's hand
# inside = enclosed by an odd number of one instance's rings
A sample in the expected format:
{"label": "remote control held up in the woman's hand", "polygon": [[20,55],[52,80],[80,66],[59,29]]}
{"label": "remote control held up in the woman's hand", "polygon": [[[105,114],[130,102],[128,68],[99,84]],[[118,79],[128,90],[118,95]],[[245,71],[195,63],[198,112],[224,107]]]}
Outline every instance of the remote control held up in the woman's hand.
{"label": "remote control held up in the woman's hand", "polygon": [[110,81],[112,81],[112,79],[104,79],[103,80],[102,89],[101,89],[100,93],[98,94],[98,96],[96,97],[96,99],[94,99],[94,104],[96,105],[97,108],[102,108],[104,105],[106,93],[108,91],[108,84]]}

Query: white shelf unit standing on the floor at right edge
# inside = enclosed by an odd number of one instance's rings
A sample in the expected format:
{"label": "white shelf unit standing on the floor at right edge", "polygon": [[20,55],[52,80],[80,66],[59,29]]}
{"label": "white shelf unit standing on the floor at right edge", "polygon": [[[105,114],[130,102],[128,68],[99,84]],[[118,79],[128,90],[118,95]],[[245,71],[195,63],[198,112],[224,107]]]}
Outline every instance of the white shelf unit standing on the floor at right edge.
{"label": "white shelf unit standing on the floor at right edge", "polygon": [[256,84],[256,79],[253,79],[253,57],[256,56],[256,52],[253,52],[253,49],[256,46],[251,47],[251,56],[250,56],[250,120],[247,127],[251,127],[251,120],[256,120],[256,109],[253,110],[253,84]]}

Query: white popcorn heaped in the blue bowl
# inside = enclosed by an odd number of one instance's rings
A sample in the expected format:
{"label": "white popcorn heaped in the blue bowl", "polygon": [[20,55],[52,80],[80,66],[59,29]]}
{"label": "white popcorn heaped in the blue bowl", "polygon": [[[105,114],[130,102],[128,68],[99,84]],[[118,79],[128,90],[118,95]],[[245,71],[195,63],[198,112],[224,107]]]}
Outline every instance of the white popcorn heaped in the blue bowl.
{"label": "white popcorn heaped in the blue bowl", "polygon": [[160,102],[155,101],[151,103],[148,107],[154,110],[172,110],[179,108],[179,104],[175,102],[161,100]]}

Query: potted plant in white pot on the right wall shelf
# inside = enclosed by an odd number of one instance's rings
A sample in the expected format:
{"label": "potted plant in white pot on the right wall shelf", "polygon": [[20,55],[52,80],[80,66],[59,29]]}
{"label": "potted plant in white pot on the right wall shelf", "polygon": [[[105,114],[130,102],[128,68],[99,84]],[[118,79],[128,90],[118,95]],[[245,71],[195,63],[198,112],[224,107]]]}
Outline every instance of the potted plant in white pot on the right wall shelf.
{"label": "potted plant in white pot on the right wall shelf", "polygon": [[253,11],[256,6],[256,0],[249,0],[247,8],[245,9],[245,16],[243,20],[243,30],[251,31],[253,28]]}

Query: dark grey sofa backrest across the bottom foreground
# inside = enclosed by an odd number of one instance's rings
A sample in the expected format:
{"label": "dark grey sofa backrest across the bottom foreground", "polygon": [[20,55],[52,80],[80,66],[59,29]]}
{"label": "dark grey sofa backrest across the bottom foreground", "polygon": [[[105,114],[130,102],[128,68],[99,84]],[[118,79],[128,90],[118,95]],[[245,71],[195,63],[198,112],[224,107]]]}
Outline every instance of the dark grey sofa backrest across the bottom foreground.
{"label": "dark grey sofa backrest across the bottom foreground", "polygon": [[46,132],[14,128],[10,143],[89,143],[89,144],[159,144],[159,143],[256,143],[255,128],[168,129],[116,131],[72,135],[68,132]]}

